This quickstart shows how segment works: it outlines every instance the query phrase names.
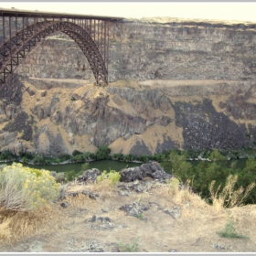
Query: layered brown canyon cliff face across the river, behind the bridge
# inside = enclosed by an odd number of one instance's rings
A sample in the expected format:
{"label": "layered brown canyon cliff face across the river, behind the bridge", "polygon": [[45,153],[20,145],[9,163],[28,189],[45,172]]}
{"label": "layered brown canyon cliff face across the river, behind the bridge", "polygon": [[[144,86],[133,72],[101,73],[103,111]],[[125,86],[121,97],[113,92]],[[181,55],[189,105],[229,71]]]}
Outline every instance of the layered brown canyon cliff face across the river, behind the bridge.
{"label": "layered brown canyon cliff face across the river, behind the bridge", "polygon": [[44,40],[1,91],[0,146],[48,155],[155,154],[256,141],[256,26],[125,20],[110,40],[108,87],[63,35]]}

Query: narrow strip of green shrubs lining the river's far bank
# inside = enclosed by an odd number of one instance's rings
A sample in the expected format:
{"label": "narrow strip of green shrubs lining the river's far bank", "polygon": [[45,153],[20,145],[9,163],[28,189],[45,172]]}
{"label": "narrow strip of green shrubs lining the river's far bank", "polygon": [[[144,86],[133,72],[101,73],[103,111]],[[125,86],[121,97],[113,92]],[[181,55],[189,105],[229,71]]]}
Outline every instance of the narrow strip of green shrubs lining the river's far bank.
{"label": "narrow strip of green shrubs lining the river's far bank", "polygon": [[250,157],[255,158],[256,152],[254,149],[241,149],[236,151],[218,151],[217,149],[205,150],[202,152],[198,151],[181,151],[181,150],[169,150],[164,151],[162,154],[155,155],[123,155],[113,154],[111,155],[111,149],[107,146],[101,146],[96,153],[85,152],[74,150],[72,155],[62,154],[58,157],[50,157],[47,155],[37,155],[31,153],[20,153],[19,155],[13,155],[9,151],[0,152],[0,163],[7,162],[19,162],[25,165],[69,165],[77,163],[91,163],[99,160],[112,160],[123,163],[135,163],[142,164],[147,161],[156,162],[168,162],[170,161],[170,154],[175,152],[181,155],[183,160],[187,161],[216,161],[216,160],[240,160],[248,159]]}

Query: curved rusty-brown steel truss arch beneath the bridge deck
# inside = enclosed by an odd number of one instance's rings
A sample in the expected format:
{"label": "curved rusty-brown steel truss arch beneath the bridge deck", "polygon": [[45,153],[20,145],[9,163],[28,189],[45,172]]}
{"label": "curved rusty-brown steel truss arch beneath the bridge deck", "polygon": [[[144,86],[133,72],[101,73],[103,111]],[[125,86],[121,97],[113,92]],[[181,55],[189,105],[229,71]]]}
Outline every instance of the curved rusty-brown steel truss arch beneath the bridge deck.
{"label": "curved rusty-brown steel truss arch beneath the bridge deck", "polygon": [[62,32],[72,38],[88,60],[97,83],[108,84],[108,70],[101,52],[90,34],[69,21],[43,21],[24,27],[0,46],[0,89],[20,64],[20,59],[35,48],[42,38]]}

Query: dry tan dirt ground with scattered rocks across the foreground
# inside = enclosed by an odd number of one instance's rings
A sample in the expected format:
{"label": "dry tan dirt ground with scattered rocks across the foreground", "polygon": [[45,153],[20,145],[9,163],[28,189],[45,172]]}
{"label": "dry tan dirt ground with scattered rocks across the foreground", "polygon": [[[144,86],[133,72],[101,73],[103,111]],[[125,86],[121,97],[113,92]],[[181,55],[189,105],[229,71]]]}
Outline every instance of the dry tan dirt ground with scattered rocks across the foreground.
{"label": "dry tan dirt ground with scattered rocks across the foreground", "polygon": [[255,205],[231,209],[237,232],[246,238],[221,238],[217,232],[228,222],[223,209],[197,195],[170,197],[161,184],[139,192],[125,186],[69,184],[37,232],[12,244],[2,241],[0,251],[120,252],[124,244],[140,252],[256,251]]}

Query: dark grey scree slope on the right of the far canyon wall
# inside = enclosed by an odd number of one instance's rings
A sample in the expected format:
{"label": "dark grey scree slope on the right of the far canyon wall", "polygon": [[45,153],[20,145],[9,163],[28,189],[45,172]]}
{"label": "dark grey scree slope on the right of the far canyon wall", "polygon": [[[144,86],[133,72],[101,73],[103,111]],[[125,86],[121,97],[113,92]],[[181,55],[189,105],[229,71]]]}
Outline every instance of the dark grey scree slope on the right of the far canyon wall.
{"label": "dark grey scree slope on the right of the far canyon wall", "polygon": [[208,99],[197,104],[178,101],[173,107],[176,125],[183,128],[184,149],[239,149],[252,145],[245,125],[217,112]]}

